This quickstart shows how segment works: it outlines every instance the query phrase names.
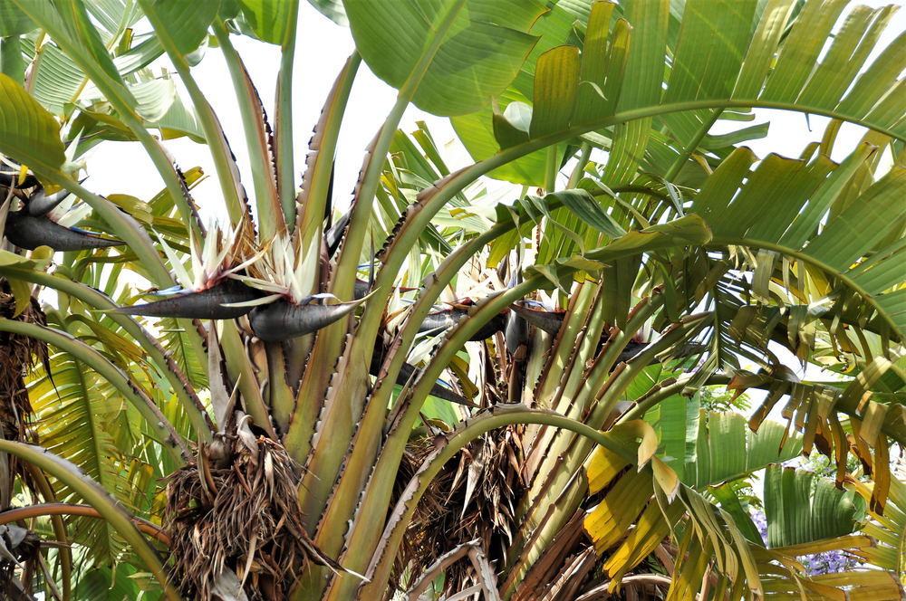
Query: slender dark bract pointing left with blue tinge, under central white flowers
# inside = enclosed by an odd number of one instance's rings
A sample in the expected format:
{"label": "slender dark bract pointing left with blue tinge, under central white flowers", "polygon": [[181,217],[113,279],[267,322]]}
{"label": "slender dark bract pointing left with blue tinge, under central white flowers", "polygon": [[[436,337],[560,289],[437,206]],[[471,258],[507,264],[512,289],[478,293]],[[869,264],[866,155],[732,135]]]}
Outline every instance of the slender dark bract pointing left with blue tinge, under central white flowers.
{"label": "slender dark bract pointing left with blue tinge, under central white flowers", "polygon": [[265,293],[238,280],[219,281],[207,290],[180,294],[171,299],[157,300],[143,305],[120,307],[112,312],[146,317],[172,317],[186,320],[235,320],[254,307],[234,307],[241,302],[258,300]]}

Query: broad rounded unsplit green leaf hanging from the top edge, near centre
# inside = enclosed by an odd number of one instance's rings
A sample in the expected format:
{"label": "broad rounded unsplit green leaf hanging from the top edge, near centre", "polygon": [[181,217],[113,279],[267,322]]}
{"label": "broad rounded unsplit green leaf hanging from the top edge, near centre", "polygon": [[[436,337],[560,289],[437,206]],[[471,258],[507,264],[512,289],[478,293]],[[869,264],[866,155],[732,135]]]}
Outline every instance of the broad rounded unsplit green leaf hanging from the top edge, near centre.
{"label": "broad rounded unsplit green leaf hanging from the top edge, near centre", "polygon": [[[346,0],[352,37],[375,75],[395,88],[419,85],[412,102],[436,115],[487,105],[516,77],[545,13],[538,0]],[[420,69],[420,81],[410,75]]]}

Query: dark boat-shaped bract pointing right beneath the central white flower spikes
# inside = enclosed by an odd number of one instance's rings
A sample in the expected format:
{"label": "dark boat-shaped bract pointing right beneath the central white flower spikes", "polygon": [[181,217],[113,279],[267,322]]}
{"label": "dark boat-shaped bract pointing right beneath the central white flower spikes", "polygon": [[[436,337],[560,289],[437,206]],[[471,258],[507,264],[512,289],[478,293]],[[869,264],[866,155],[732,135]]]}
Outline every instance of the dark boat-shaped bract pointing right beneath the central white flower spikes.
{"label": "dark boat-shaped bract pointing right beneath the central white flower spikes", "polygon": [[342,320],[360,304],[361,300],[339,305],[294,304],[288,300],[275,300],[255,307],[248,315],[248,323],[259,339],[282,342],[311,334]]}

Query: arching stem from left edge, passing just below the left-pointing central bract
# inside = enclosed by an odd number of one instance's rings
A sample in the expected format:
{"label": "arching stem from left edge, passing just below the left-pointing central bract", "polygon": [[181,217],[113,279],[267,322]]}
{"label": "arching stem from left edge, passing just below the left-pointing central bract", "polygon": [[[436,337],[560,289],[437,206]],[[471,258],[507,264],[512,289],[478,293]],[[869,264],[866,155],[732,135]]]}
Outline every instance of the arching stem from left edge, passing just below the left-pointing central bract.
{"label": "arching stem from left edge, passing just below the left-pointing central bract", "polygon": [[[63,294],[82,300],[83,303],[93,309],[110,310],[118,307],[107,295],[96,291],[90,286],[77,281],[67,280],[57,275],[20,270],[14,267],[0,267],[0,275],[6,278],[29,281],[63,292]],[[210,443],[213,440],[210,417],[207,415],[205,407],[201,404],[201,400],[198,398],[195,388],[189,382],[188,377],[173,358],[169,356],[167,350],[160,345],[158,339],[154,338],[147,329],[142,328],[130,316],[121,315],[120,313],[108,313],[107,317],[117,323],[122,329],[125,329],[139,343],[141,348],[148,353],[149,358],[157,365],[160,372],[169,381],[170,386],[173,386],[173,390],[176,391],[183,410],[192,422],[192,426],[198,432],[199,440]]]}

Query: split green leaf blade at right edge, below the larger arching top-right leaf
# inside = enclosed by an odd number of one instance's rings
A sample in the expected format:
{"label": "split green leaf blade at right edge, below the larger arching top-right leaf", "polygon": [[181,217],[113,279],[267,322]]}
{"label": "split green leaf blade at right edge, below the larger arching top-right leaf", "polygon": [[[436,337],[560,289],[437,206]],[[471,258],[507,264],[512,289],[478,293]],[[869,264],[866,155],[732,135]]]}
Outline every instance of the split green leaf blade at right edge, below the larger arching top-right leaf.
{"label": "split green leaf blade at right edge, below the larger arching top-right leaf", "polygon": [[[756,157],[738,148],[708,178],[690,211],[705,218],[715,243],[785,253],[839,278],[863,295],[867,310],[906,336],[903,293],[895,289],[906,280],[900,258],[906,167],[894,166],[823,223],[874,150],[863,144],[836,168],[823,156],[806,163],[770,155],[751,171]],[[764,219],[766,214],[773,218]],[[893,242],[877,249],[891,234]]]}

